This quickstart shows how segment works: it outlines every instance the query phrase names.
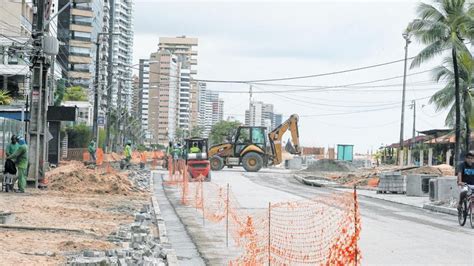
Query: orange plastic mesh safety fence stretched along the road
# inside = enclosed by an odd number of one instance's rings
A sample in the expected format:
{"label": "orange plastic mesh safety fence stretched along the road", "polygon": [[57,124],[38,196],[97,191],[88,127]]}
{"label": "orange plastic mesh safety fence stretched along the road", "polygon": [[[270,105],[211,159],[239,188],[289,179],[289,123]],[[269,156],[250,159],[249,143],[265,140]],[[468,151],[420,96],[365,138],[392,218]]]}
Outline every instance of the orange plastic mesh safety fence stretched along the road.
{"label": "orange plastic mesh safety fence stretched along the road", "polygon": [[[183,162],[170,162],[168,185],[181,189],[181,203],[202,212],[207,221],[228,219],[229,234],[243,254],[230,265],[356,265],[360,215],[356,193],[270,204],[251,215],[230,190],[215,183],[189,182]],[[173,172],[172,169],[177,169]],[[199,180],[199,179],[198,179]],[[229,195],[228,195],[229,193]]]}

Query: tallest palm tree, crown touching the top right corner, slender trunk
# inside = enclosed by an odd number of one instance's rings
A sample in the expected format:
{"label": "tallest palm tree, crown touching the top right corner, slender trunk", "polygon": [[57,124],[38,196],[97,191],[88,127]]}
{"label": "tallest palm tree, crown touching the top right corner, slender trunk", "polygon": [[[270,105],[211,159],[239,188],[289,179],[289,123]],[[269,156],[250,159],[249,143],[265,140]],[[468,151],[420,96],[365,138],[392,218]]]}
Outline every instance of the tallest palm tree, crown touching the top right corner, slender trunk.
{"label": "tallest palm tree, crown touching the top right corner, slender trunk", "polygon": [[461,99],[459,86],[458,54],[469,53],[464,38],[473,36],[473,6],[465,0],[434,0],[433,5],[420,3],[419,18],[410,23],[409,29],[426,47],[412,61],[411,68],[451,50],[454,74],[455,109],[455,163],[460,159]]}

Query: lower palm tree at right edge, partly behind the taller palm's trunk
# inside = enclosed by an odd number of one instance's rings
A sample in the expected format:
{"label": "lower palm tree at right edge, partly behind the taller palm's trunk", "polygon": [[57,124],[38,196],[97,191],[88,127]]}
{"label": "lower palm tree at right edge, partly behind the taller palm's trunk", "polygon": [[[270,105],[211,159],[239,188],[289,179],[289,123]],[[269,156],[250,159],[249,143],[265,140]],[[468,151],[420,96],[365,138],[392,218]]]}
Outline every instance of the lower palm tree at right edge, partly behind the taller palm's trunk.
{"label": "lower palm tree at right edge, partly behind the taller palm's trunk", "polygon": [[[474,60],[470,53],[461,53],[458,56],[459,66],[459,85],[461,89],[461,106],[463,112],[461,113],[461,120],[464,125],[464,141],[465,150],[469,150],[469,140],[471,135],[472,116],[472,95],[471,89],[474,88]],[[433,96],[431,96],[429,103],[433,103],[436,107],[436,111],[442,109],[450,109],[445,120],[446,126],[453,127],[455,124],[455,83],[454,83],[454,71],[453,71],[453,60],[451,57],[446,57],[443,61],[443,65],[433,69],[434,79],[437,82],[444,81],[446,85]]]}

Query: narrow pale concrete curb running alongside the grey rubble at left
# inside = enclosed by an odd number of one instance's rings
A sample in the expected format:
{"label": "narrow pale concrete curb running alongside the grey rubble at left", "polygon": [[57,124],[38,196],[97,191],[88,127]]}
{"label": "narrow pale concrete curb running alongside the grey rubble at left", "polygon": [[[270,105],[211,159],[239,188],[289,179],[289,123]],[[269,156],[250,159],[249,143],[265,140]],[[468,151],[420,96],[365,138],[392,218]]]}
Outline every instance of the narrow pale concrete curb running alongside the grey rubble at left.
{"label": "narrow pale concrete curb running alongside the grey rubble at left", "polygon": [[[160,240],[160,243],[163,244],[163,246],[171,246],[168,236],[166,234],[165,220],[163,219],[163,216],[161,214],[160,205],[158,204],[158,200],[153,194],[153,191],[155,191],[154,189],[155,184],[153,182],[153,173],[150,173],[150,178],[151,178],[150,187],[152,189],[151,205],[153,206],[153,211],[155,212],[156,227],[158,229],[158,238]],[[166,260],[169,266],[179,265],[178,257],[176,256],[176,251],[174,249],[168,248],[166,254],[167,254]]]}

